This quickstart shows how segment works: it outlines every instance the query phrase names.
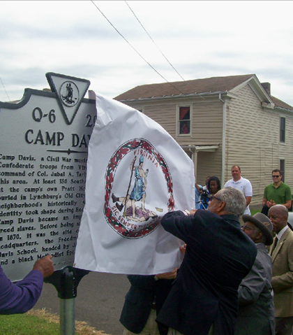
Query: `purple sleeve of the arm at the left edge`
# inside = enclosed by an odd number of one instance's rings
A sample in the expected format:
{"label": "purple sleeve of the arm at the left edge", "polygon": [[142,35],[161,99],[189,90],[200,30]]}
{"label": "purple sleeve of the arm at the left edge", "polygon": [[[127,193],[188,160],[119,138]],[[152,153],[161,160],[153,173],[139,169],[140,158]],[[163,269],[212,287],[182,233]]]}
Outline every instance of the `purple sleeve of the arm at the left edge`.
{"label": "purple sleeve of the arm at the left edge", "polygon": [[13,284],[0,266],[0,314],[25,313],[31,309],[43,288],[43,275],[32,270],[24,279]]}

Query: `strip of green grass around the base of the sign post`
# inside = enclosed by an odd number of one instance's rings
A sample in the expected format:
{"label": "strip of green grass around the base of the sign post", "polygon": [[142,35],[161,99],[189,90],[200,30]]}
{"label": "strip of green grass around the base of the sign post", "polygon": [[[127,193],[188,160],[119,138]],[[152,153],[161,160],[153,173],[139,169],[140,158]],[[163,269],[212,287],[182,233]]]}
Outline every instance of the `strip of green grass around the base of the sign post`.
{"label": "strip of green grass around the base of the sign post", "polygon": [[[1,335],[59,335],[59,316],[45,309],[24,314],[0,315]],[[86,322],[75,321],[75,335],[107,335]]]}

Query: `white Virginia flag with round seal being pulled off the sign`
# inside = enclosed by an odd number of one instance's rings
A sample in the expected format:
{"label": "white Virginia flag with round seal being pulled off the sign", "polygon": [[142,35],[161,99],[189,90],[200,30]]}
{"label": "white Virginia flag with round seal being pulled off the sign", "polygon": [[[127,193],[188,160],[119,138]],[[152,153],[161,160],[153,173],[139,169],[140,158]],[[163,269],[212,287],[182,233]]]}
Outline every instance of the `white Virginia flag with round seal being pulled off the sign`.
{"label": "white Virginia flag with round seal being pulled off the sign", "polygon": [[96,108],[75,267],[140,275],[171,271],[181,264],[183,242],[160,226],[160,218],[194,208],[193,162],[139,111],[98,94]]}

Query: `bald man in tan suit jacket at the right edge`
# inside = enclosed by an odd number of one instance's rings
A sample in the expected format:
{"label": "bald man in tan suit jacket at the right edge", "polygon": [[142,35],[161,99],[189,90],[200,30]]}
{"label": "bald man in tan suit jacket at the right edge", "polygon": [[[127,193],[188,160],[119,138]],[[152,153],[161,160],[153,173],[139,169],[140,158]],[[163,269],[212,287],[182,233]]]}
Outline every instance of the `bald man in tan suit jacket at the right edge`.
{"label": "bald man in tan suit jacket at the right edge", "polygon": [[293,231],[287,225],[288,208],[275,205],[269,219],[276,233],[269,254],[273,262],[273,302],[276,335],[292,335],[293,329]]}

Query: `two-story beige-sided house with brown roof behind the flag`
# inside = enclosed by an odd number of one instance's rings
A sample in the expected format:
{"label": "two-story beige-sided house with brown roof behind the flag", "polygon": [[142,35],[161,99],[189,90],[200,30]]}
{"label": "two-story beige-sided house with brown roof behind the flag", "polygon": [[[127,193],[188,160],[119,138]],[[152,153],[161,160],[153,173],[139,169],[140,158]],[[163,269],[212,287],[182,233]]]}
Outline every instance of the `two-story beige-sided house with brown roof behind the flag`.
{"label": "two-story beige-sided house with brown roof behind the flag", "polygon": [[134,87],[114,98],[164,127],[193,159],[197,183],[231,179],[231,166],[253,185],[261,204],[271,170],[293,188],[293,107],[271,96],[255,74]]}

